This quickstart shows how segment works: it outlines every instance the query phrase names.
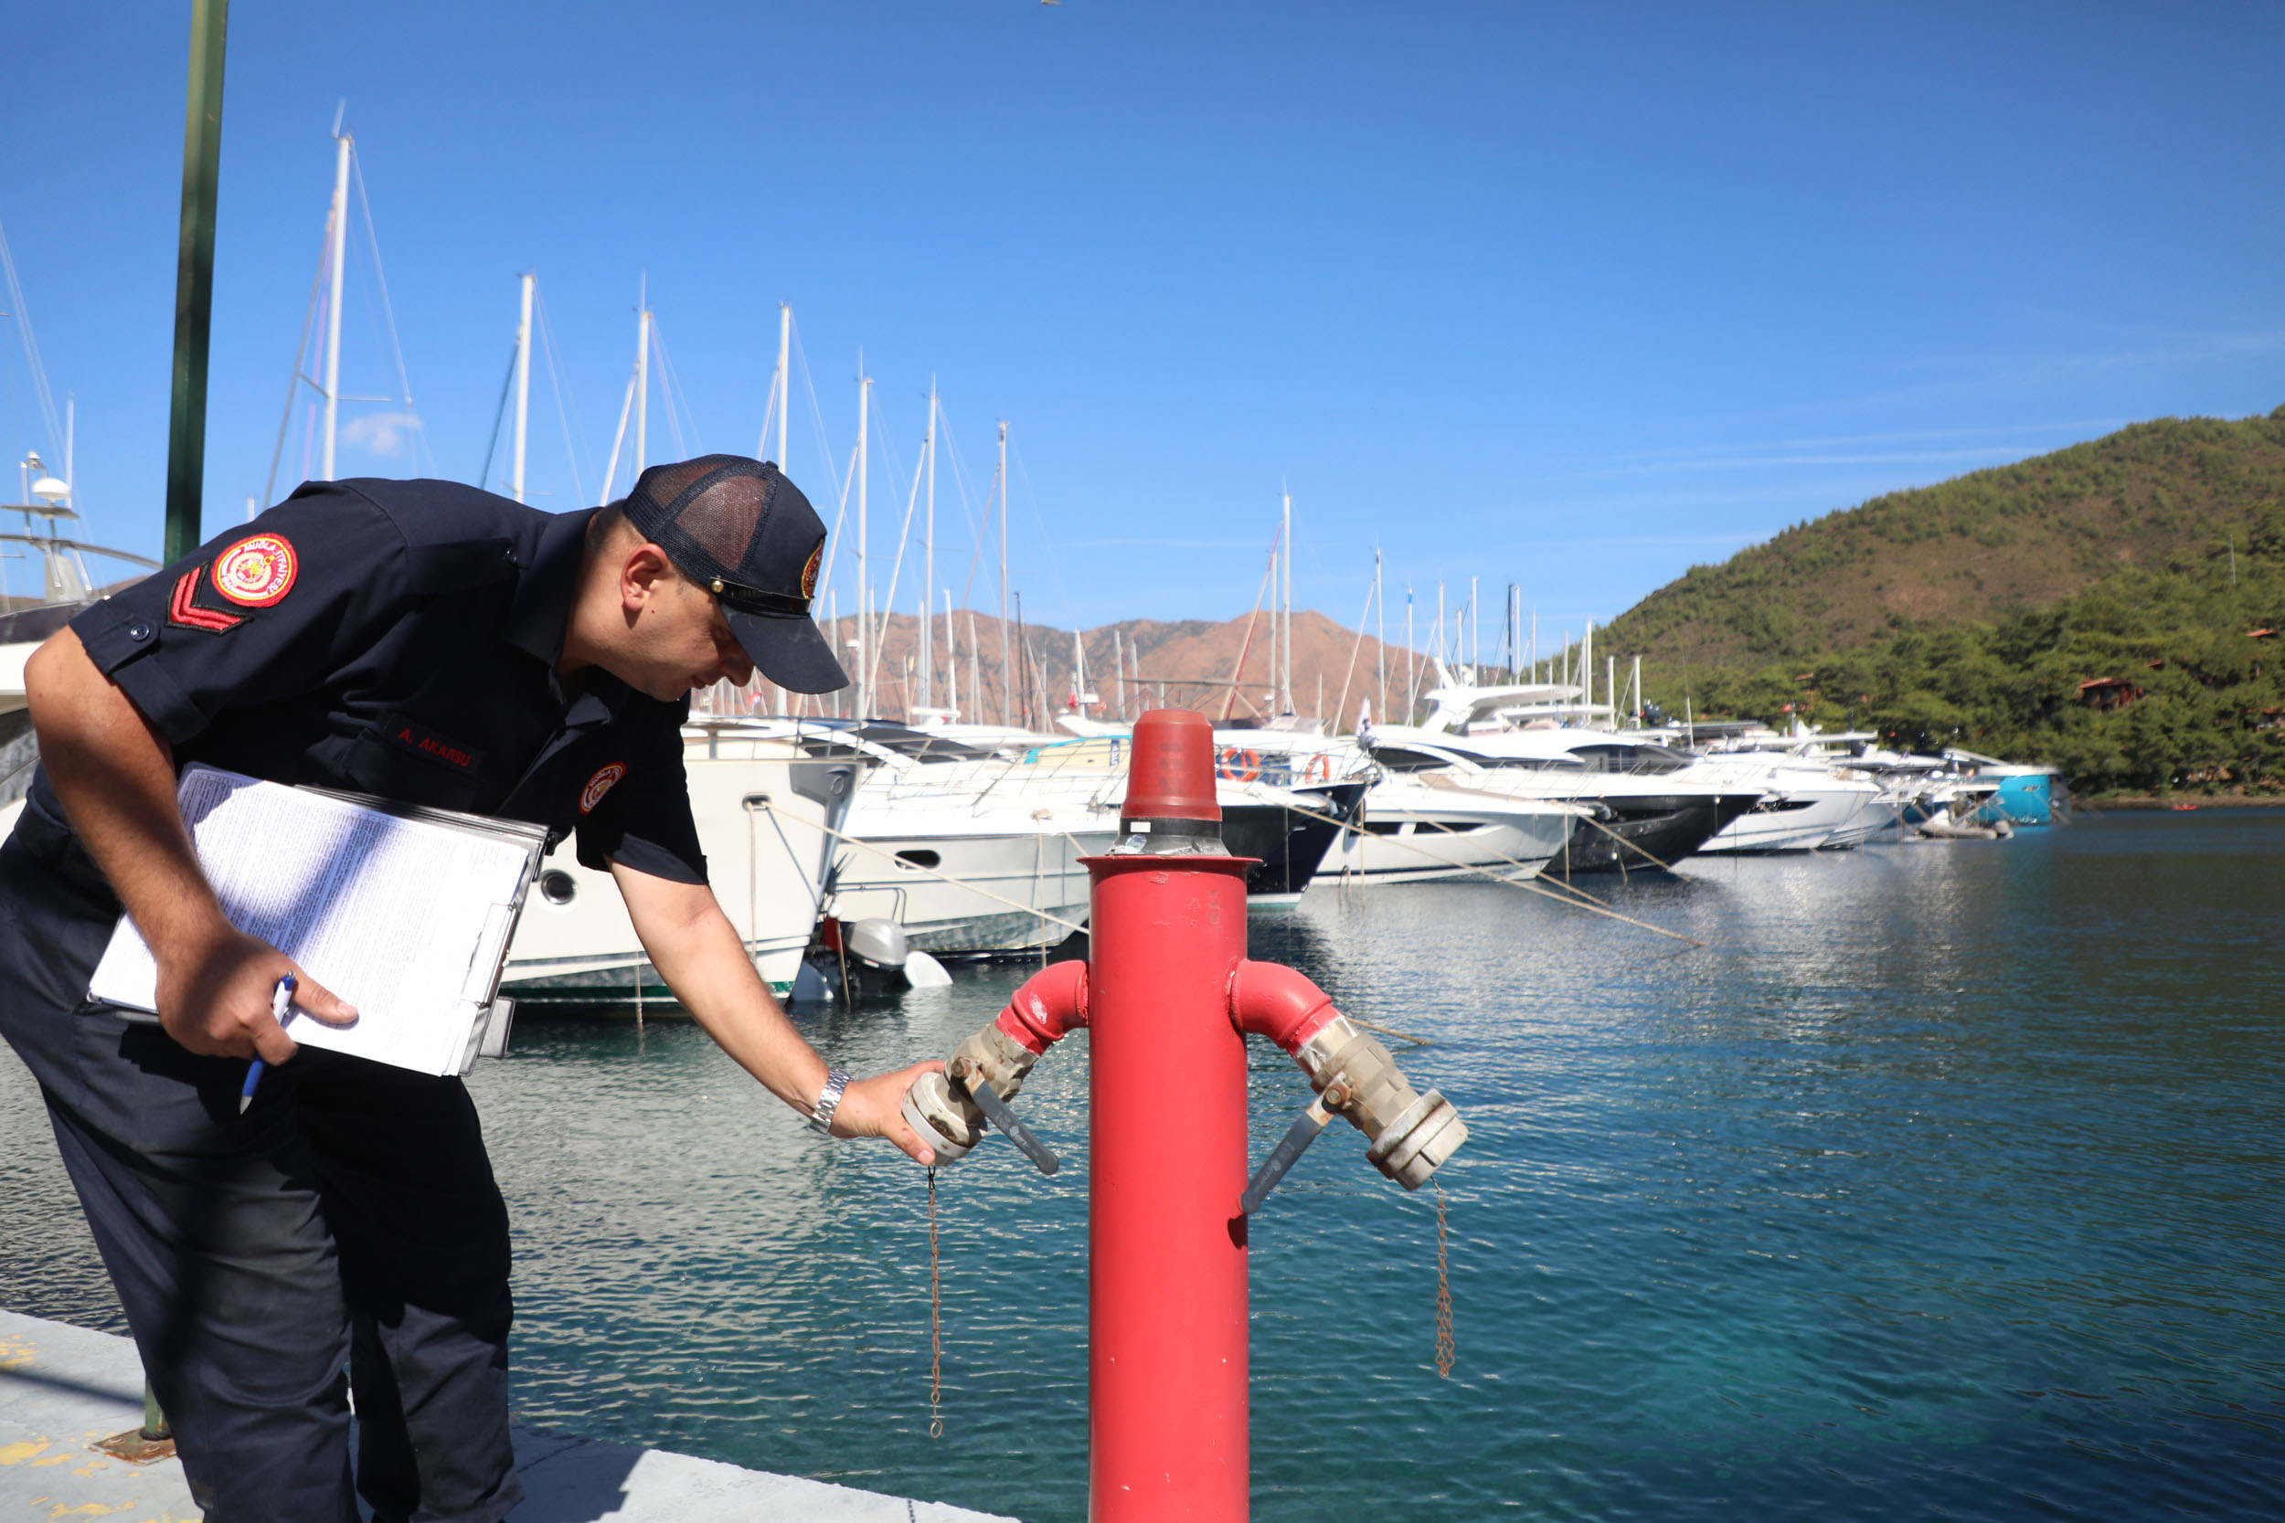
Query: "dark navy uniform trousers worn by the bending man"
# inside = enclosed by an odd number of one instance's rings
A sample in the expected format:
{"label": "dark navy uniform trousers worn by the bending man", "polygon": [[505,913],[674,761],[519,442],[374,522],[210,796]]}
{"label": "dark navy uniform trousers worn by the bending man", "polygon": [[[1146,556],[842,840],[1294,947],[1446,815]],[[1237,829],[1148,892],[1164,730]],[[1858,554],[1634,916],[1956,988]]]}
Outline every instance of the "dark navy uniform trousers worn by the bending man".
{"label": "dark navy uniform trousers worn by the bending man", "polygon": [[377,1518],[503,1518],[507,1208],[468,1091],[304,1048],[240,1117],[242,1059],[87,1002],[119,900],[41,792],[0,845],[0,1032],[208,1523],[354,1523],[352,1391]]}

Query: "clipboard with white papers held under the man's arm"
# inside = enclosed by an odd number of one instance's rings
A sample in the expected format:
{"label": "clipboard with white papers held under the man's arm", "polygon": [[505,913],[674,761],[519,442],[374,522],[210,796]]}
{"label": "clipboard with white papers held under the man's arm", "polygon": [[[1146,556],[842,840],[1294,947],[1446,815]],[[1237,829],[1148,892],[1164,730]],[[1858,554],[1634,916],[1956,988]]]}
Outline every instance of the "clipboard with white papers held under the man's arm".
{"label": "clipboard with white papers held under the man's arm", "polygon": [[[183,769],[176,801],[231,925],[359,1012],[347,1028],[295,1021],[295,1041],[434,1075],[507,1050],[500,966],[544,827],[203,763]],[[158,1018],[158,964],[133,918],[112,929],[87,996]]]}

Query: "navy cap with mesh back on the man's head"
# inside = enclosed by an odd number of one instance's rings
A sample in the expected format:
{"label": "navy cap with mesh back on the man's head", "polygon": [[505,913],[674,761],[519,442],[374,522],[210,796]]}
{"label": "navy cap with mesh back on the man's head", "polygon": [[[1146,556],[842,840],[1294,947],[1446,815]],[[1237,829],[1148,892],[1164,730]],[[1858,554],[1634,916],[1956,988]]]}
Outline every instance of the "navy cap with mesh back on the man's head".
{"label": "navy cap with mesh back on the man's head", "polygon": [[722,603],[731,635],[788,692],[850,685],[809,617],[825,521],[770,461],[701,454],[651,466],[626,493],[626,521]]}

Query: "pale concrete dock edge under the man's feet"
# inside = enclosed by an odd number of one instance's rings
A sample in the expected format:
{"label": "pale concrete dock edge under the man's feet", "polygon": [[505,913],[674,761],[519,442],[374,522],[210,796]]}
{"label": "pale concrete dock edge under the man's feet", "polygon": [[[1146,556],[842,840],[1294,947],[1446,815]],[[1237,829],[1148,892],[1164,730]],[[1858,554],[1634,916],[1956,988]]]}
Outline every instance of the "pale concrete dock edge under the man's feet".
{"label": "pale concrete dock edge under the man's feet", "polygon": [[[142,1425],[142,1361],[112,1333],[0,1311],[0,1518],[192,1523],[176,1459],[94,1445]],[[516,1429],[528,1498],[510,1523],[1015,1523],[717,1459]]]}

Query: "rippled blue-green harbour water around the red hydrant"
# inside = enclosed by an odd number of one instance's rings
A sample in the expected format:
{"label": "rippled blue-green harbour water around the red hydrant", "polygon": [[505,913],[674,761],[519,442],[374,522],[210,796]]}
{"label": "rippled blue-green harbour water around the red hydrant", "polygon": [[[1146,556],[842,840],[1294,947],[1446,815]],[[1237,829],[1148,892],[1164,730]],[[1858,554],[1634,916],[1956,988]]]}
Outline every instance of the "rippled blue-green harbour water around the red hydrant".
{"label": "rippled blue-green harbour water around the red hydrant", "polygon": [[[1312,893],[1254,957],[1419,1032],[1472,1139],[1435,1212],[1339,1128],[1252,1233],[1254,1516],[2267,1518],[2285,1496],[2285,811]],[[811,1021],[941,1055],[1017,970]],[[1085,1043],[939,1176],[823,1144],[690,1025],[526,1021],[475,1089],[526,1423],[1028,1523],[1085,1512]],[[1254,1153],[1302,1103],[1254,1053]],[[110,1311],[0,1064],[0,1302]]]}

